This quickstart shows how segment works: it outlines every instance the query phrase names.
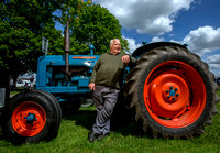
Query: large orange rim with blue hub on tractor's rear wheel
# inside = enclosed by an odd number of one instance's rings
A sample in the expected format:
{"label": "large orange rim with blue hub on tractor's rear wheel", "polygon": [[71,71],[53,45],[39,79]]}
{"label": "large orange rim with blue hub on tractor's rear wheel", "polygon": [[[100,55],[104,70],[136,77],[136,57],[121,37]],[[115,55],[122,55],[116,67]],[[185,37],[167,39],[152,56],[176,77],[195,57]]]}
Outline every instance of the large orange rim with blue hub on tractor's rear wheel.
{"label": "large orange rim with blue hub on tractor's rear wheel", "polygon": [[144,102],[150,116],[167,128],[194,123],[206,106],[205,83],[190,65],[169,61],[148,74],[144,84]]}

